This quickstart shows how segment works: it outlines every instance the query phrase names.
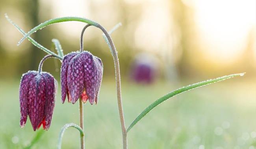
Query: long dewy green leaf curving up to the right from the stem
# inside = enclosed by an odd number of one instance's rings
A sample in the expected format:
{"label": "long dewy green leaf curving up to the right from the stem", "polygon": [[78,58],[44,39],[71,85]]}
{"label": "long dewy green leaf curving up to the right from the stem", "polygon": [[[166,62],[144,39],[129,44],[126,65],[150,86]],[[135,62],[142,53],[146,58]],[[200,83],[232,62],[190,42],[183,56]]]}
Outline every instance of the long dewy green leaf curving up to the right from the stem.
{"label": "long dewy green leaf curving up to the right from the stem", "polygon": [[199,82],[199,83],[196,83],[196,84],[192,84],[192,85],[187,85],[185,87],[182,87],[180,89],[176,89],[175,91],[172,91],[171,93],[168,93],[164,96],[162,96],[161,98],[159,98],[158,100],[156,100],[155,102],[153,102],[152,104],[150,104],[141,114],[139,114],[139,116],[137,116],[137,118],[132,122],[132,124],[128,127],[127,129],[127,132],[130,131],[130,129],[132,129],[132,127],[134,127],[135,124],[137,124],[137,122],[139,122],[139,120],[141,120],[141,118],[143,118],[149,111],[151,111],[152,109],[154,109],[154,107],[158,106],[159,104],[161,104],[162,102],[164,102],[165,100],[177,95],[177,94],[180,94],[180,93],[183,93],[183,92],[186,92],[186,91],[189,91],[191,89],[195,89],[197,87],[201,87],[201,86],[204,86],[204,85],[208,85],[208,84],[212,84],[212,83],[215,83],[215,82],[219,82],[219,81],[223,81],[223,80],[226,80],[226,79],[229,79],[229,78],[233,78],[235,76],[243,76],[245,75],[245,73],[238,73],[238,74],[233,74],[233,75],[228,75],[228,76],[222,76],[222,77],[219,77],[219,78],[215,78],[215,79],[211,79],[211,80],[207,80],[207,81],[203,81],[203,82]]}

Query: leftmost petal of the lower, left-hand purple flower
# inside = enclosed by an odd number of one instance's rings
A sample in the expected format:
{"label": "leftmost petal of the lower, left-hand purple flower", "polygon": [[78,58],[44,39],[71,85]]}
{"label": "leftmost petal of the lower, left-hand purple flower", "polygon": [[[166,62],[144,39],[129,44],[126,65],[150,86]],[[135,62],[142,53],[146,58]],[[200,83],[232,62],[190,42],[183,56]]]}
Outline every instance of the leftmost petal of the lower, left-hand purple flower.
{"label": "leftmost petal of the lower, left-hand purple flower", "polygon": [[20,81],[20,127],[24,127],[28,116],[28,89],[29,82],[36,74],[29,71],[24,74]]}

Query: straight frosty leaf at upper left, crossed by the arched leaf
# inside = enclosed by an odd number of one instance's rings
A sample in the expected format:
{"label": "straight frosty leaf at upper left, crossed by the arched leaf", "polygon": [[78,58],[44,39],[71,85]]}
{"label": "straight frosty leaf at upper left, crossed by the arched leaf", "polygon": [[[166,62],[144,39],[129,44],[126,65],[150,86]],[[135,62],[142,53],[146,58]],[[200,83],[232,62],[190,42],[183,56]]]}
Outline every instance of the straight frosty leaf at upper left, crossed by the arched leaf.
{"label": "straight frosty leaf at upper left, crossed by the arched leaf", "polygon": [[[20,31],[20,33],[22,33],[22,35],[24,35],[24,36],[26,35],[26,33],[25,33],[17,24],[15,24],[15,23],[7,16],[7,14],[4,14],[4,15],[5,15],[6,19],[7,19],[12,25],[14,25],[14,26]],[[35,45],[36,47],[38,47],[39,49],[42,49],[42,50],[45,51],[46,53],[48,53],[48,54],[50,54],[50,55],[54,55],[54,56],[56,56],[57,58],[59,58],[59,59],[62,60],[62,58],[61,58],[60,56],[56,55],[54,52],[52,52],[52,51],[48,50],[47,48],[43,47],[43,45],[37,43],[37,42],[36,42],[35,40],[33,40],[33,38],[31,38],[30,36],[27,36],[26,38],[27,38],[33,45]]]}

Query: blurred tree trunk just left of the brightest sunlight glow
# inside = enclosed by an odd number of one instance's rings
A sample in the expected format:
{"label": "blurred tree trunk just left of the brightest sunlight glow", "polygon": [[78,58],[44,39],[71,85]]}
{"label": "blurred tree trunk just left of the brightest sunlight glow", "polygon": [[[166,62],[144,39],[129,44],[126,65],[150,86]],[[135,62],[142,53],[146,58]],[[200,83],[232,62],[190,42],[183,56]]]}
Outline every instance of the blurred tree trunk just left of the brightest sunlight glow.
{"label": "blurred tree trunk just left of the brightest sunlight glow", "polygon": [[[182,2],[182,0],[174,0],[170,2],[171,15],[174,20],[174,31],[179,37],[179,43],[174,47],[174,53],[181,53],[178,58],[177,67],[182,75],[189,75],[193,72],[194,61],[193,56],[197,53],[198,41],[195,33],[195,22],[193,9]],[[191,54],[192,53],[192,54]],[[176,61],[176,60],[175,60]]]}

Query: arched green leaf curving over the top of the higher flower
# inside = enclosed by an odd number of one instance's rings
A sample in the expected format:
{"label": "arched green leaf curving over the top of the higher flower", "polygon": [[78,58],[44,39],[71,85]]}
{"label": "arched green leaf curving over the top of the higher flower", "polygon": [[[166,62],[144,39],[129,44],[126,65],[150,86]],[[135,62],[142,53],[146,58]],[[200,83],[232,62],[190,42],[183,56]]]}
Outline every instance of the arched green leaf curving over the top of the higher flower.
{"label": "arched green leaf curving over the top of the higher flower", "polygon": [[33,34],[34,32],[36,32],[39,29],[42,29],[48,25],[51,24],[55,24],[55,23],[59,23],[59,22],[67,22],[67,21],[78,21],[78,22],[84,22],[87,24],[91,24],[93,26],[99,27],[100,25],[97,22],[94,22],[93,20],[89,20],[87,18],[80,18],[80,17],[74,17],[74,16],[68,16],[68,17],[62,17],[62,18],[55,18],[55,19],[50,19],[47,20],[39,25],[37,25],[36,27],[34,27],[32,30],[30,30],[19,42],[18,45],[20,45],[23,40],[25,38],[27,38],[28,36],[30,36],[31,34]]}

